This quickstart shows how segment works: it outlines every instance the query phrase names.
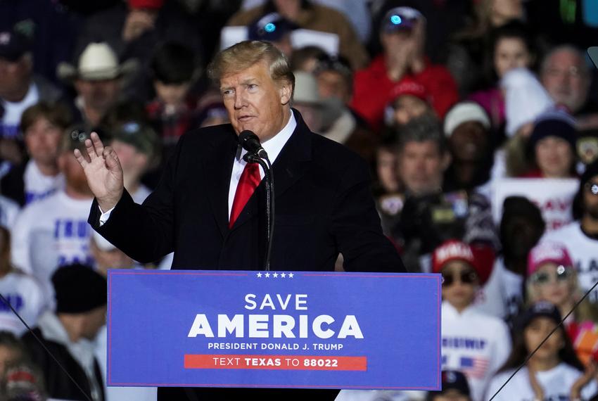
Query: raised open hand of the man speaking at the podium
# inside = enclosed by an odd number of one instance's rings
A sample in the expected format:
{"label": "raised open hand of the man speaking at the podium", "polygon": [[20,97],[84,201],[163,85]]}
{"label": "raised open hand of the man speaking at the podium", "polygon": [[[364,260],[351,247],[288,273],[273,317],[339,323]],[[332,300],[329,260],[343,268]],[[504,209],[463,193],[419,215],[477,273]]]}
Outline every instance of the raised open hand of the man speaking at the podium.
{"label": "raised open hand of the man speaking at the podium", "polygon": [[96,196],[100,209],[107,212],[115,207],[125,188],[120,161],[113,148],[104,148],[95,132],[91,133],[91,139],[85,140],[85,150],[87,155],[75,149],[75,158],[83,167],[89,189]]}

